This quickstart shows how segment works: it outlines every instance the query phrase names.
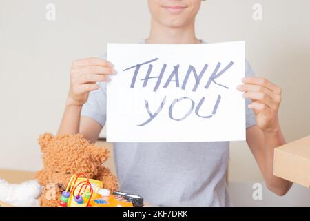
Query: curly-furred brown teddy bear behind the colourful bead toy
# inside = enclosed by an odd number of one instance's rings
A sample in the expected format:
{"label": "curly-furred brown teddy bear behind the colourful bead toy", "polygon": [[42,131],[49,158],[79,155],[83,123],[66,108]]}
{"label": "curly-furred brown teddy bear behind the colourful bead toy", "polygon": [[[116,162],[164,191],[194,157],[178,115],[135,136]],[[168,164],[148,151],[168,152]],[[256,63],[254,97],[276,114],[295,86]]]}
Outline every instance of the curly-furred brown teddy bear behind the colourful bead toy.
{"label": "curly-furred brown teddy bear behind the colourful bead toy", "polygon": [[90,178],[101,180],[111,192],[118,189],[118,182],[103,162],[110,157],[106,148],[90,144],[82,135],[52,135],[39,137],[43,155],[43,169],[37,173],[39,184],[44,187],[39,198],[41,206],[59,206],[61,193],[70,177],[86,173]]}

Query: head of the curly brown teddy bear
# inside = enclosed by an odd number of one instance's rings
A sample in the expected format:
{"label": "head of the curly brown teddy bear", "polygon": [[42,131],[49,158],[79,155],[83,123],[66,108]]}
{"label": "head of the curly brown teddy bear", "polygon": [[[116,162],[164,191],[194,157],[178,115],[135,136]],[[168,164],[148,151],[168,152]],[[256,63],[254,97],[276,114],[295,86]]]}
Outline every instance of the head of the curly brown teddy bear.
{"label": "head of the curly brown teddy bear", "polygon": [[90,144],[82,135],[52,135],[44,133],[39,137],[43,158],[43,170],[37,178],[46,185],[54,185],[61,193],[72,175],[86,173],[96,177],[99,167],[110,157],[106,148]]}

